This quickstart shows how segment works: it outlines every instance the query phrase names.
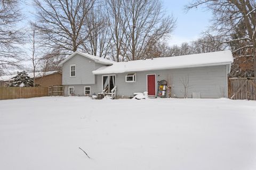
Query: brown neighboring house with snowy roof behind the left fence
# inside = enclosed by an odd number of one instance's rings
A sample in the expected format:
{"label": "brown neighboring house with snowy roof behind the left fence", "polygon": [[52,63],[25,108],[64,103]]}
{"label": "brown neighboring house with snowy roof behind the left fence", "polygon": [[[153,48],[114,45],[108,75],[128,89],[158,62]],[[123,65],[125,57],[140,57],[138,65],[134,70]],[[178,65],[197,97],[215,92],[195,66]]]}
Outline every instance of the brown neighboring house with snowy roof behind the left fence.
{"label": "brown neighboring house with snowy roof behind the left fence", "polygon": [[[0,87],[6,86],[7,82],[15,75],[4,75],[0,77]],[[28,73],[28,77],[34,78],[34,73]],[[60,71],[36,72],[35,84],[39,87],[59,86],[62,83],[62,73]]]}

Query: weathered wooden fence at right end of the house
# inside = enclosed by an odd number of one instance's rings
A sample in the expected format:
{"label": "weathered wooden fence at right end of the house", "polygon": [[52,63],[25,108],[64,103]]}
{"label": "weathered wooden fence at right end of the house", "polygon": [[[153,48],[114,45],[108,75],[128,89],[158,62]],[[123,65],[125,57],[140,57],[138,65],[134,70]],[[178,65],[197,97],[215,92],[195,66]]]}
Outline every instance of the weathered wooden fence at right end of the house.
{"label": "weathered wooden fence at right end of the house", "polygon": [[256,100],[256,78],[230,78],[230,99]]}

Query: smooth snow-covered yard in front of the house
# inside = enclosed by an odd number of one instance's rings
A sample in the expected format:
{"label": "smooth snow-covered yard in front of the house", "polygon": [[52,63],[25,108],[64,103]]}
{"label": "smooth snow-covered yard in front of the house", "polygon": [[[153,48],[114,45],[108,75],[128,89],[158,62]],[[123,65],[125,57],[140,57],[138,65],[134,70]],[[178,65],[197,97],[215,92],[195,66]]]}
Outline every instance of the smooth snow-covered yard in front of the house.
{"label": "smooth snow-covered yard in front of the house", "polygon": [[256,101],[1,100],[0,169],[256,169]]}

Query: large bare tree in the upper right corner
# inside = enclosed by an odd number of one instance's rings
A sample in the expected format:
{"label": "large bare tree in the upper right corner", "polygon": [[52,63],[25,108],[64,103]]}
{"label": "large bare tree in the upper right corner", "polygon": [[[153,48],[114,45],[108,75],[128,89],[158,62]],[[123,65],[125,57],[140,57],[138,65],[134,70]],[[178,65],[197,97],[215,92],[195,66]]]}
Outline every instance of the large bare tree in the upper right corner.
{"label": "large bare tree in the upper right corner", "polygon": [[[220,44],[243,44],[231,46],[233,53],[252,49],[253,69],[256,73],[256,2],[254,0],[203,1],[196,0],[186,6],[187,10],[204,5],[213,12],[211,32],[221,38]],[[237,30],[244,31],[238,37]],[[239,32],[239,31],[238,31]],[[246,43],[245,43],[246,41]],[[235,48],[234,48],[235,47]],[[248,57],[248,55],[240,55]],[[247,58],[248,60],[249,58]]]}

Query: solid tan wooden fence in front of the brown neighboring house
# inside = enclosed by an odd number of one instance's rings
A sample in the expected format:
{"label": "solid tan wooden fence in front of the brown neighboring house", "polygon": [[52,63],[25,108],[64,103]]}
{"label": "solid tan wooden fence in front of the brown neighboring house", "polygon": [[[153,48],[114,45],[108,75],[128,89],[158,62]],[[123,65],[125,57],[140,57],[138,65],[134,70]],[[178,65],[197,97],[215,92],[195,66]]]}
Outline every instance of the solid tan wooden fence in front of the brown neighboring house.
{"label": "solid tan wooden fence in front of the brown neighboring house", "polygon": [[0,87],[0,100],[48,96],[47,87]]}

